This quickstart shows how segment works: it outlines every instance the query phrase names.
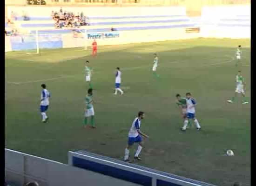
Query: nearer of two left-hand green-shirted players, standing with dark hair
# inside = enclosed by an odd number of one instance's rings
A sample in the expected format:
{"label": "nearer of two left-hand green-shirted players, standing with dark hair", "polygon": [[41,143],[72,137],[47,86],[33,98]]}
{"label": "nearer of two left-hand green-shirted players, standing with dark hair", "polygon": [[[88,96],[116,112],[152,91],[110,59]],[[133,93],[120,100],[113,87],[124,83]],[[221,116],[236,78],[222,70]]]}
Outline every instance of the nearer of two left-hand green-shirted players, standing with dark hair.
{"label": "nearer of two left-hand green-shirted players, standing with dark hair", "polygon": [[91,117],[91,126],[92,128],[95,128],[94,126],[94,106],[93,106],[93,89],[88,89],[88,94],[85,97],[85,118],[84,118],[84,125],[87,127],[87,121],[88,118]]}

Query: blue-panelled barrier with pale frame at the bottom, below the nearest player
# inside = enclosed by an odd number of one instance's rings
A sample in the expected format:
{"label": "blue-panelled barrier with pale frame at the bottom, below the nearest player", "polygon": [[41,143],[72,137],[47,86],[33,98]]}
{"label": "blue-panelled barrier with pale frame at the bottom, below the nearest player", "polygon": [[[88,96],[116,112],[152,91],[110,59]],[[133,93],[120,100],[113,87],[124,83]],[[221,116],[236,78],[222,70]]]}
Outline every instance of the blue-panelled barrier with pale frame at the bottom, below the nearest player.
{"label": "blue-panelled barrier with pale frame at the bottom, below the nearest player", "polygon": [[86,151],[68,152],[68,164],[142,186],[214,186]]}

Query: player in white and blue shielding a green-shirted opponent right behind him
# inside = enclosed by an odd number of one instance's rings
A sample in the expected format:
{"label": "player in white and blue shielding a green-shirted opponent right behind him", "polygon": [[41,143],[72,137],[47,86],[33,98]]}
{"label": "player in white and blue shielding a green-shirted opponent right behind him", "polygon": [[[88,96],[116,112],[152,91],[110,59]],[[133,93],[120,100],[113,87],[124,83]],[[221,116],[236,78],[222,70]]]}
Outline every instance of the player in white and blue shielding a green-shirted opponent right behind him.
{"label": "player in white and blue shielding a green-shirted opponent right behind him", "polygon": [[195,118],[195,105],[196,105],[195,99],[191,98],[190,93],[186,93],[186,101],[187,101],[186,119],[184,121],[184,126],[182,127],[182,131],[186,131],[187,126],[189,124],[189,120],[194,120],[197,130],[200,131],[201,126],[198,120]]}

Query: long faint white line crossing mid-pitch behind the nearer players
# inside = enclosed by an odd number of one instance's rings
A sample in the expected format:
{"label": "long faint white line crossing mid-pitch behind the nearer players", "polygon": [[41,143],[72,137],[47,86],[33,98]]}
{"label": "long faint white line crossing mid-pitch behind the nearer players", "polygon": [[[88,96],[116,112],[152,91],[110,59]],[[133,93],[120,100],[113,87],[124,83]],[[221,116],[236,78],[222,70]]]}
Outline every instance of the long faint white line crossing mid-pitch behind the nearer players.
{"label": "long faint white line crossing mid-pitch behind the nearer players", "polygon": [[[232,60],[234,60],[234,59],[232,59]],[[224,61],[224,62],[220,62],[220,63],[209,64],[209,65],[205,65],[205,66],[215,66],[215,65],[225,64],[225,63],[229,63],[232,60],[228,60],[228,61]],[[171,62],[165,63],[165,64],[174,64],[174,63],[181,63],[181,62],[183,62],[183,61],[171,61]],[[150,65],[150,66],[152,66],[152,65]],[[205,66],[200,66],[200,67],[205,67]],[[149,67],[149,65],[148,66],[127,67],[127,68],[122,68],[122,70],[123,71],[135,70],[135,69],[140,69],[140,68],[145,68],[145,67]],[[165,66],[165,68],[166,67],[167,66]],[[36,82],[45,82],[45,81],[59,80],[59,79],[65,79],[65,78],[70,78],[70,77],[74,77],[74,76],[80,76],[80,75],[84,75],[84,74],[63,75],[61,77],[56,77],[56,78],[49,78],[49,79],[42,79],[42,80],[31,80],[31,81],[23,81],[23,82],[7,81],[7,83],[8,84],[14,84],[14,85],[20,85],[20,84],[27,84],[27,83],[36,83]]]}

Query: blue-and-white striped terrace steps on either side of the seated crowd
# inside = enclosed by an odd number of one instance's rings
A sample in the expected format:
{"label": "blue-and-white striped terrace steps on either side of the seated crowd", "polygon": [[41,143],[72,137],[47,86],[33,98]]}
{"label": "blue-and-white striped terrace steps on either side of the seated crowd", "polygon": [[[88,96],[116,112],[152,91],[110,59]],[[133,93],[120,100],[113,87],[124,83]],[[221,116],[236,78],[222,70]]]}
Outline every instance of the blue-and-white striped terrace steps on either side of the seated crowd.
{"label": "blue-and-white striped terrace steps on either side of the seated crowd", "polygon": [[[115,27],[118,31],[123,30],[144,30],[172,27],[193,27],[194,23],[186,15],[148,15],[148,16],[111,16],[95,17],[88,16],[89,25],[80,27],[87,29],[87,32],[106,32]],[[48,30],[47,33],[68,33],[70,30],[54,30],[55,21],[51,17],[31,17],[29,21],[18,18],[15,25],[26,30]],[[6,23],[6,27],[9,26]],[[45,32],[41,32],[45,33]]]}

